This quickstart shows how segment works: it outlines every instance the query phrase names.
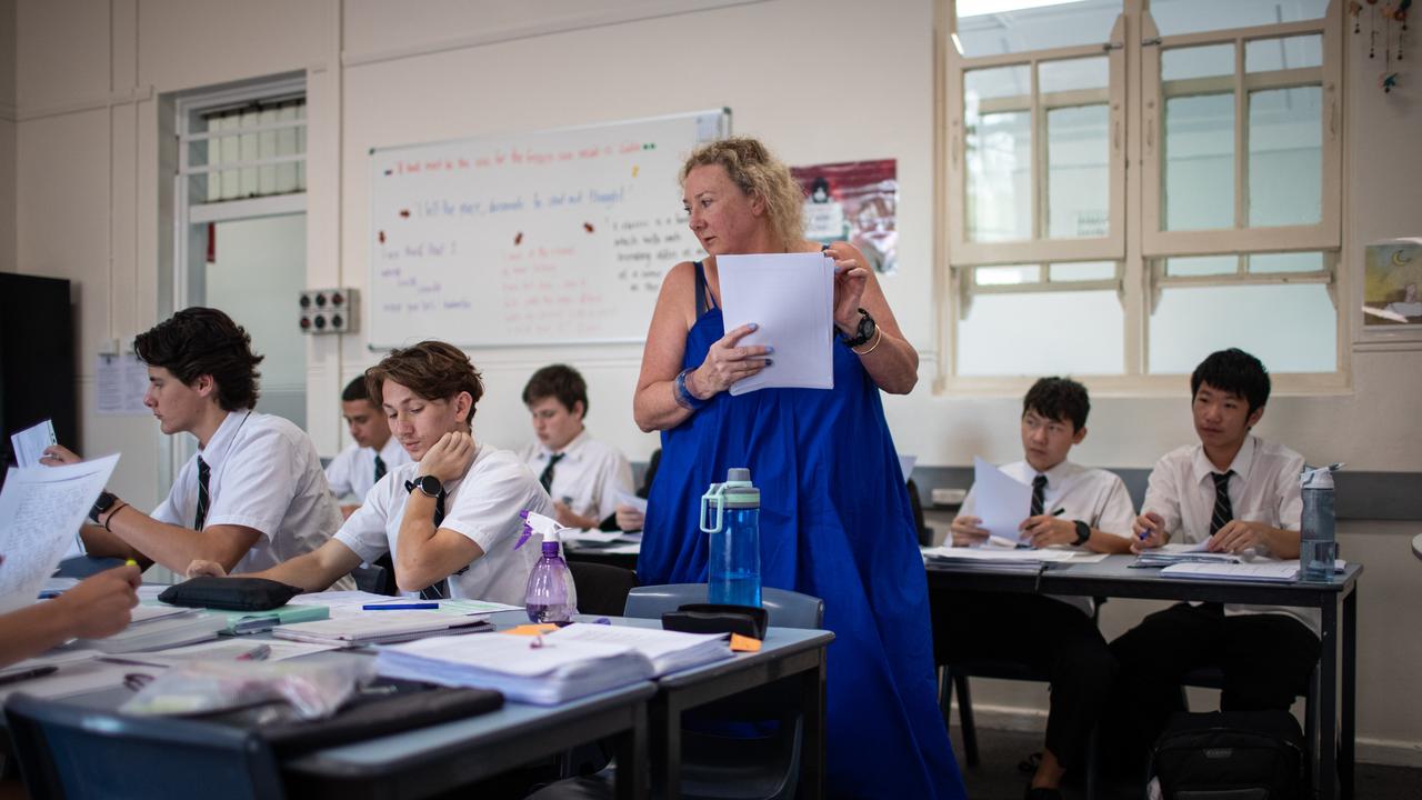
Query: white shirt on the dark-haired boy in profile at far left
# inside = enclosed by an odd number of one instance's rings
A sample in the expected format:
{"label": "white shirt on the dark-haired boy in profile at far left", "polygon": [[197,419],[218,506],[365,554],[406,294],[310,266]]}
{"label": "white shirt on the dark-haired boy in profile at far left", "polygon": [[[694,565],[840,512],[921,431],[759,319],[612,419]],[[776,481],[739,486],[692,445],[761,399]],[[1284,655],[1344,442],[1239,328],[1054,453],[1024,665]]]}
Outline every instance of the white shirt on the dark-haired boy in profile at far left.
{"label": "white shirt on the dark-haired boy in profile at far left", "polygon": [[203,528],[242,525],[262,534],[233,574],[267,569],[310,552],[341,525],[311,437],[289,420],[247,410],[229,413],[208,446],[183,464],[154,520],[192,528],[199,456],[209,470]]}

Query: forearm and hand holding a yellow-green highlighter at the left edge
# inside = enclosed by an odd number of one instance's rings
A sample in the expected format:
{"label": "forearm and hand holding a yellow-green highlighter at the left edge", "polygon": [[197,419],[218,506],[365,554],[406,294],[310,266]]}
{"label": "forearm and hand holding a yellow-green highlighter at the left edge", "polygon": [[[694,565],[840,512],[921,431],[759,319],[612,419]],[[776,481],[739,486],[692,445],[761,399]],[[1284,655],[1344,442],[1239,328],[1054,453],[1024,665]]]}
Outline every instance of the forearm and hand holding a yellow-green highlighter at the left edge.
{"label": "forearm and hand holding a yellow-green highlighter at the left edge", "polygon": [[100,639],[128,626],[142,577],[132,564],[91,575],[60,596],[0,615],[0,666],[75,638]]}

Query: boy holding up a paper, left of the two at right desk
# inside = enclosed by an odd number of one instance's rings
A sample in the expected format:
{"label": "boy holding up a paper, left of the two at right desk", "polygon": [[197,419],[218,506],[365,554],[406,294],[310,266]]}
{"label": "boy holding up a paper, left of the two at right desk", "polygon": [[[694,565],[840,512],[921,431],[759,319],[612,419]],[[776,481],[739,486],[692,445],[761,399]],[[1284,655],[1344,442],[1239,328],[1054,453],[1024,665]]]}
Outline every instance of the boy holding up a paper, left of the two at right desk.
{"label": "boy holding up a paper, left of the two at right desk", "polygon": [[[1086,387],[1065,377],[1044,377],[1022,399],[1022,461],[1003,465],[1032,485],[1032,500],[1018,525],[1035,548],[1071,547],[1092,552],[1128,552],[1135,510],[1115,473],[1066,460],[1086,438],[1091,399]],[[973,491],[953,520],[953,545],[973,547],[988,532],[973,515]],[[1116,662],[1092,621],[1089,598],[974,592],[937,592],[933,598],[934,645],[940,662],[966,658],[1024,660],[1051,673],[1047,744],[1028,786],[1028,800],[1059,800],[1066,770],[1086,766],[1086,739],[1096,725]]]}

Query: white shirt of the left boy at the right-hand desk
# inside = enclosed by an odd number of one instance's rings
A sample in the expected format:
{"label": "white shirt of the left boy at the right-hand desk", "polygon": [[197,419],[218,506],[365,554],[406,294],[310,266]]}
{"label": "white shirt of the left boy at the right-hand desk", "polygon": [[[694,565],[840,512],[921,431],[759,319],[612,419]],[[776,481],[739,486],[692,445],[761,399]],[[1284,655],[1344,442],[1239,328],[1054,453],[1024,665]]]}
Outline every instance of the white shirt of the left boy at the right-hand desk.
{"label": "white shirt of the left boy at the right-hand desk", "polygon": [[[1042,487],[1042,511],[1051,514],[1062,510],[1062,520],[1081,520],[1094,530],[1115,537],[1130,538],[1130,522],[1135,520],[1135,507],[1130,505],[1130,493],[1126,491],[1121,475],[1092,467],[1082,467],[1071,461],[1062,461],[1038,473],[1027,461],[1012,461],[1000,467],[1008,477],[1032,485],[1037,475],[1047,475],[1047,485]],[[973,490],[963,498],[961,515],[973,515]],[[1022,510],[1022,520],[1030,517],[1031,508]],[[1074,549],[1085,551],[1085,545]],[[1047,595],[1066,605],[1078,608],[1086,616],[1095,609],[1095,601],[1088,596]]]}

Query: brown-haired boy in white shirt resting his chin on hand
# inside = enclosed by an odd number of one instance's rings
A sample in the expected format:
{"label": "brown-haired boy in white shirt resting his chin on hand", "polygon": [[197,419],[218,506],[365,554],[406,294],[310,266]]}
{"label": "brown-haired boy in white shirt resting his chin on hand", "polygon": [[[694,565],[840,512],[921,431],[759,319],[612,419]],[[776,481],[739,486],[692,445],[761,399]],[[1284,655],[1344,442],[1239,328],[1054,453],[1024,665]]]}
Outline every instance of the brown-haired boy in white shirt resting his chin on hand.
{"label": "brown-haired boy in white shirt resting his chin on hand", "polygon": [[[321,591],[390,552],[404,592],[523,605],[539,538],[513,549],[519,511],[552,515],[553,504],[516,456],[474,438],[483,381],[469,357],[444,342],[421,342],[391,350],[365,377],[412,461],[381,478],[320,549],[260,577]],[[222,569],[193,562],[188,574]]]}

